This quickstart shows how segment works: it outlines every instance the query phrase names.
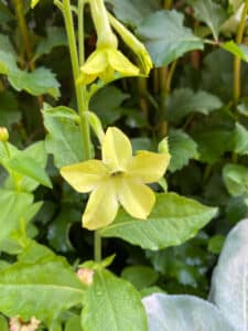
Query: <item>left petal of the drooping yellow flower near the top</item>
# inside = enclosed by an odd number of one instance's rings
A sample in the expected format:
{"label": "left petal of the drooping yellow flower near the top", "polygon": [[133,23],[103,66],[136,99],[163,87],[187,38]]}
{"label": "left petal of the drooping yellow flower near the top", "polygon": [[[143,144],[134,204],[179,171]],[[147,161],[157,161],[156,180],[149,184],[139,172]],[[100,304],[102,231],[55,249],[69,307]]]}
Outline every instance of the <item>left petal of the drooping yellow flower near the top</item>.
{"label": "left petal of the drooping yellow flower near the top", "polygon": [[108,57],[106,50],[96,50],[80,67],[80,71],[87,75],[95,75],[105,71],[107,65]]}

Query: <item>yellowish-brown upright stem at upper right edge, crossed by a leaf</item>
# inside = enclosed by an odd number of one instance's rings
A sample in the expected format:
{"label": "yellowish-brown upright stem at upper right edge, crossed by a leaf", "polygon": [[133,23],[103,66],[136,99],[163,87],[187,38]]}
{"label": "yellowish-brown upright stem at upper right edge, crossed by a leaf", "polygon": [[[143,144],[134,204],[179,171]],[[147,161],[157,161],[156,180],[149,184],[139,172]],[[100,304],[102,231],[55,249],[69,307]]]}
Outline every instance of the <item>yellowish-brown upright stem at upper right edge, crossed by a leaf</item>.
{"label": "yellowish-brown upright stem at upper right edge, crossed by a leaf", "polygon": [[[248,12],[248,0],[245,2],[245,7],[242,9],[241,20],[238,26],[237,35],[236,35],[236,43],[240,44],[242,42],[242,35],[246,28],[246,17]],[[240,79],[240,72],[241,72],[241,58],[235,56],[234,58],[234,103],[237,105],[240,94],[241,94],[241,79]]]}

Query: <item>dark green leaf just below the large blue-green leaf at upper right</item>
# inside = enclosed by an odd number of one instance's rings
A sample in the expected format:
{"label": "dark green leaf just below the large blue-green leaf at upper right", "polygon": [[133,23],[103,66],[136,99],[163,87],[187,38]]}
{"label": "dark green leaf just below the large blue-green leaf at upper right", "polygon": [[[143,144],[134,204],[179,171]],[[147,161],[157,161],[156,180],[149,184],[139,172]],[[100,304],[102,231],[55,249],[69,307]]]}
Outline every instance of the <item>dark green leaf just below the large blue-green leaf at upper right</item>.
{"label": "dark green leaf just below the large blue-green leaf at upper right", "polygon": [[179,124],[192,113],[208,115],[222,106],[222,100],[208,92],[198,90],[194,93],[190,88],[176,88],[168,98],[166,118]]}

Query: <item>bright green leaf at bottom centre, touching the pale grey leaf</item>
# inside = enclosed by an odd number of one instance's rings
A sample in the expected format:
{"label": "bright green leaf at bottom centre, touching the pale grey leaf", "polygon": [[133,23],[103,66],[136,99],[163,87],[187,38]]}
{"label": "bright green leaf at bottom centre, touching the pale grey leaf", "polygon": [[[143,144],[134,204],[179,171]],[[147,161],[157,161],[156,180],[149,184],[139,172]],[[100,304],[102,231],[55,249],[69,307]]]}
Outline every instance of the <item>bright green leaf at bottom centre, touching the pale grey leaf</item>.
{"label": "bright green leaf at bottom centre, touching the pale grey leaf", "polygon": [[84,298],[83,330],[147,331],[140,293],[127,280],[97,270]]}

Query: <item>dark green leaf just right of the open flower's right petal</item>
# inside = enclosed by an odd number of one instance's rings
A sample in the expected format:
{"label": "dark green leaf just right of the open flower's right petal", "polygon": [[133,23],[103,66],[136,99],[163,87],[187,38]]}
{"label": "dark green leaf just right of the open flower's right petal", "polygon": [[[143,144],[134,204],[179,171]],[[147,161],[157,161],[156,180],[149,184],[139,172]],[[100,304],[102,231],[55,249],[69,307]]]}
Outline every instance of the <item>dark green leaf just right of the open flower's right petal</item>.
{"label": "dark green leaf just right of the open flower's right petal", "polygon": [[172,172],[182,169],[191,159],[197,157],[195,141],[182,130],[170,130],[169,147],[171,154],[169,170]]}

